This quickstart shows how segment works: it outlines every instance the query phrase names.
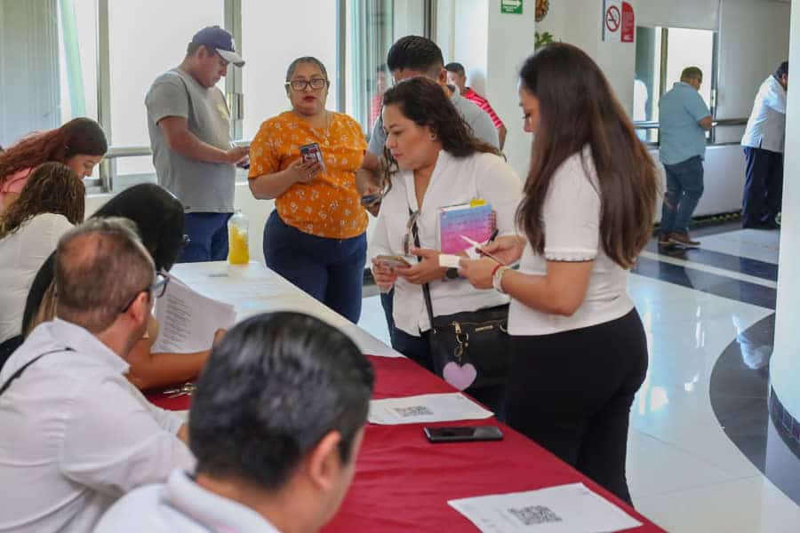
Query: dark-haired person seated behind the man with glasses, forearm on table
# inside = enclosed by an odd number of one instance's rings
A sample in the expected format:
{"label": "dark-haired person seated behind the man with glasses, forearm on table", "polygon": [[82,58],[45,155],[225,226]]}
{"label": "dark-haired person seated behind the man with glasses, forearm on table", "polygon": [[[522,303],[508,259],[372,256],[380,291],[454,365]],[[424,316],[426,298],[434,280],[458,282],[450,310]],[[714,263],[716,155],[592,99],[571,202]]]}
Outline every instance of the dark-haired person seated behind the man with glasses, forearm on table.
{"label": "dark-haired person seated behind the man with glasses, forearm on table", "polygon": [[[147,183],[125,189],[92,215],[98,217],[131,219],[156,263],[156,271],[169,271],[178,259],[183,245],[183,206],[163,187]],[[26,334],[39,322],[52,319],[54,306],[48,305],[51,286],[52,257],[36,274],[28,294],[22,324]],[[127,378],[142,390],[193,379],[208,360],[210,350],[193,354],[153,353],[151,347],[156,337],[157,324],[153,319],[148,333],[133,346],[127,358],[131,365]]]}

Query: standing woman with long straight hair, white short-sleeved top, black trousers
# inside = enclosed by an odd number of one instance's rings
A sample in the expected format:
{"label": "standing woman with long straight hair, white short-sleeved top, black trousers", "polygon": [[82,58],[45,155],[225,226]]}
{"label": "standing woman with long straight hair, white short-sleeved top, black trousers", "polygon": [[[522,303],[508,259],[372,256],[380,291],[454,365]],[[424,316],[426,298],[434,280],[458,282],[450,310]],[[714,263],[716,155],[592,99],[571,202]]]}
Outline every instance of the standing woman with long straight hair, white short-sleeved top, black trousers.
{"label": "standing woman with long straight hair, white short-sleeved top, black trousers", "polygon": [[630,502],[628,416],[647,370],[626,282],[652,235],[652,159],[594,61],[551,44],[520,73],[535,134],[518,225],[491,259],[462,261],[481,289],[511,296],[508,425]]}

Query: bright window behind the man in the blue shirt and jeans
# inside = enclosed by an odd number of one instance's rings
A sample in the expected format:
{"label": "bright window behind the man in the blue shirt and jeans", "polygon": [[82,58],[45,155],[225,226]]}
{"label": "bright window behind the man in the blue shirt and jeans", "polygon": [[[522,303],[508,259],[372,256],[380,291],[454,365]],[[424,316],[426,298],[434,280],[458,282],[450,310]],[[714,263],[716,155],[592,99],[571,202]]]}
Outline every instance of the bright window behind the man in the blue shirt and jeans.
{"label": "bright window behind the man in the blue shirt and jeans", "polygon": [[[714,111],[715,32],[688,28],[636,28],[634,122],[658,122],[660,96],[680,81],[686,67],[703,71],[700,96]],[[658,129],[638,129],[640,139],[658,141]],[[708,133],[707,133],[708,135]]]}

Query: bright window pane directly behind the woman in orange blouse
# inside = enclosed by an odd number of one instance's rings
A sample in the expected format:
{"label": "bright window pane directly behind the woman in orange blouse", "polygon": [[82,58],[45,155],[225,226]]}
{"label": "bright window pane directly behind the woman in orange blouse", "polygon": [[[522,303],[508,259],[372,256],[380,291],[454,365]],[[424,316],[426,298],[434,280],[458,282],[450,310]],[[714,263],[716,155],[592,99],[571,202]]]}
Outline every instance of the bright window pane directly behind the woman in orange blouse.
{"label": "bright window pane directly behind the woman in orange blouse", "polygon": [[327,107],[337,102],[336,2],[242,1],[242,69],[244,138],[252,139],[261,123],[289,109],[284,83],[286,68],[300,56],[322,61],[331,80]]}

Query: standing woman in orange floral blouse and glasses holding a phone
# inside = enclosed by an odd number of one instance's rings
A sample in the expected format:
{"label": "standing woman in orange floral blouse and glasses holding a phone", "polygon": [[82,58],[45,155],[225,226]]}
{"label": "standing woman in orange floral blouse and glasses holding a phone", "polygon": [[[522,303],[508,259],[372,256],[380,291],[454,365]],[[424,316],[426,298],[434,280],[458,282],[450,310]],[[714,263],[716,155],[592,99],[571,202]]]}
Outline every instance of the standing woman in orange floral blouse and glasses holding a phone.
{"label": "standing woman in orange floral blouse and glasses holding a phone", "polygon": [[[261,124],[250,148],[250,190],[275,198],[264,227],[267,266],[358,322],[366,261],[367,214],[356,189],[364,159],[361,126],[328,111],[330,87],[316,58],[292,61],[286,94],[292,110]],[[300,147],[317,143],[324,164],[304,163]]]}

